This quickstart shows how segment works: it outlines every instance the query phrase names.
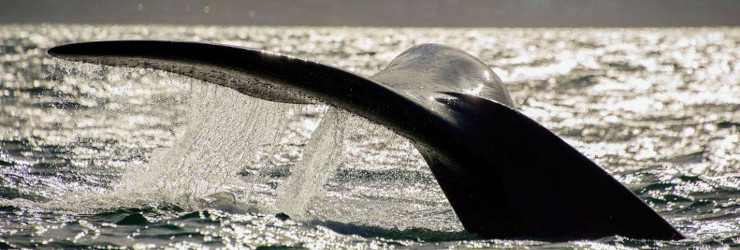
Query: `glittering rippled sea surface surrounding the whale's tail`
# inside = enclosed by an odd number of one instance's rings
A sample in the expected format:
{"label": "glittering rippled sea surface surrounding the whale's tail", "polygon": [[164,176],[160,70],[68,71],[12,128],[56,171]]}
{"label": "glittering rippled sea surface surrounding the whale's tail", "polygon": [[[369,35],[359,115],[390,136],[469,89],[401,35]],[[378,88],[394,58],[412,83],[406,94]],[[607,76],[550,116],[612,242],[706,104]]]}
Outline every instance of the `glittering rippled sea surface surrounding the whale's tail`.
{"label": "glittering rippled sea surface surrounding the whale's tail", "polygon": [[[687,239],[482,240],[383,127],[45,52],[116,39],[239,45],[364,75],[416,44],[461,48]],[[0,63],[0,248],[740,247],[738,28],[6,24]]]}

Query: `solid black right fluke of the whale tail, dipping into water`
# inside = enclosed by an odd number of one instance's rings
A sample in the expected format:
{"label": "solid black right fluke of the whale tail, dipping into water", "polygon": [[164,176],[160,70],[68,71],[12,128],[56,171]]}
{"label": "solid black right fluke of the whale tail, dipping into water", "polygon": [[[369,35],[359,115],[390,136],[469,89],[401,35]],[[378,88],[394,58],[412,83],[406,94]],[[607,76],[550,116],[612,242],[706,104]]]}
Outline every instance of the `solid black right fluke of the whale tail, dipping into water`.
{"label": "solid black right fluke of the whale tail, dipping into water", "polygon": [[422,154],[450,203],[464,211],[457,215],[467,230],[486,238],[683,238],[540,124],[490,100],[449,95],[454,99],[444,102],[466,124],[461,141],[475,144],[455,150],[452,159],[433,151]]}

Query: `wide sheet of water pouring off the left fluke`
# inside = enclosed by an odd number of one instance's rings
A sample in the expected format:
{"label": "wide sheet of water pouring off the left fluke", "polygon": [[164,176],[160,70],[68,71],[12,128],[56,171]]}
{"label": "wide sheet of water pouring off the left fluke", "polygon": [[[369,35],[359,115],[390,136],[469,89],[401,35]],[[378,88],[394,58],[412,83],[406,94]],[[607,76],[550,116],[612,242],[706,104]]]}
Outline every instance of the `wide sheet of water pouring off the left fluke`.
{"label": "wide sheet of water pouring off the left fluke", "polygon": [[173,146],[156,150],[148,166],[129,169],[116,192],[194,208],[244,209],[250,185],[239,173],[258,152],[273,148],[290,109],[230,89],[193,84],[187,126]]}

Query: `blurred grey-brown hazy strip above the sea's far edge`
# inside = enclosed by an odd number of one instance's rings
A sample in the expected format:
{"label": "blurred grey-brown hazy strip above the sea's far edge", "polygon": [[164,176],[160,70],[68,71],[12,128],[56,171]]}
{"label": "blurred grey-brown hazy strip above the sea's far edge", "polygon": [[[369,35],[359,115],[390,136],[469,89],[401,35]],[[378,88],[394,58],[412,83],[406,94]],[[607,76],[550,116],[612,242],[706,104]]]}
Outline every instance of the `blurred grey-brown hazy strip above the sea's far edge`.
{"label": "blurred grey-brown hazy strip above the sea's far edge", "polygon": [[737,26],[740,0],[0,0],[0,23]]}

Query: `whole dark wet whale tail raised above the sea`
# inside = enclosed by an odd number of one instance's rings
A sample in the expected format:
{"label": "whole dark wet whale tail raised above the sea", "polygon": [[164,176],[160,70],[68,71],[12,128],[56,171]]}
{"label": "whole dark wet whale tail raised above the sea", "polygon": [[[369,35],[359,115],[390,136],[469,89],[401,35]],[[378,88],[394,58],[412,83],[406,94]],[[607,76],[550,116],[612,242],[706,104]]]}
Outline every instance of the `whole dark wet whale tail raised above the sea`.
{"label": "whole dark wet whale tail raised above the sea", "polygon": [[384,125],[416,145],[465,229],[484,238],[683,239],[599,166],[514,110],[488,66],[451,47],[414,46],[370,78],[203,43],[90,42],[48,53],[170,71],[270,101],[321,102]]}

